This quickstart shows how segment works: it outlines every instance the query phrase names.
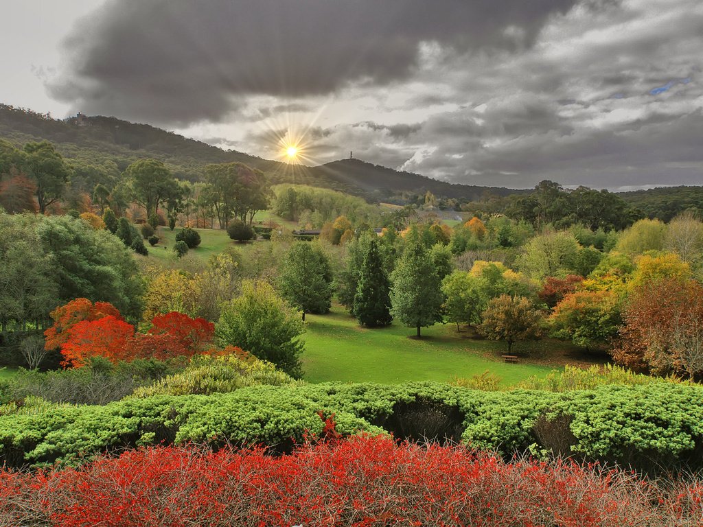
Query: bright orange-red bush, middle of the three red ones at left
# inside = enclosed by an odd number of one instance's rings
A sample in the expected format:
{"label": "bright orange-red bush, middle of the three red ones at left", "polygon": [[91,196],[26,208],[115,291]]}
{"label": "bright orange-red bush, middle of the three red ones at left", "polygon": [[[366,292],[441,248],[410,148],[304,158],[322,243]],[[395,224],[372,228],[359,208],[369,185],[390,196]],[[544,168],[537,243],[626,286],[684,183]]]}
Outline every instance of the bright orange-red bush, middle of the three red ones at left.
{"label": "bright orange-red bush, middle of the three red ones at left", "polygon": [[125,355],[127,339],[134,335],[134,326],[108,315],[98,320],[82,320],[68,330],[61,346],[63,365],[81,367],[89,358],[101,356],[117,363],[131,360]]}

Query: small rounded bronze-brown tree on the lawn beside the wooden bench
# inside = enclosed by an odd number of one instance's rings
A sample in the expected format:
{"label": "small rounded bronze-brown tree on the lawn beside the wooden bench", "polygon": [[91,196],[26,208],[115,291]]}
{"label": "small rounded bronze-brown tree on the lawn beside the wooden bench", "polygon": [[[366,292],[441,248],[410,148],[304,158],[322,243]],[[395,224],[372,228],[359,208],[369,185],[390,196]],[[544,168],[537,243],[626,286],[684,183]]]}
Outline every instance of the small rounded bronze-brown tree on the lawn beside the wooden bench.
{"label": "small rounded bronze-brown tree on the lawn beside the wooden bench", "polygon": [[529,299],[501,294],[489,302],[477,330],[487,339],[504,340],[510,353],[515,342],[536,340],[542,336],[541,320],[541,313]]}

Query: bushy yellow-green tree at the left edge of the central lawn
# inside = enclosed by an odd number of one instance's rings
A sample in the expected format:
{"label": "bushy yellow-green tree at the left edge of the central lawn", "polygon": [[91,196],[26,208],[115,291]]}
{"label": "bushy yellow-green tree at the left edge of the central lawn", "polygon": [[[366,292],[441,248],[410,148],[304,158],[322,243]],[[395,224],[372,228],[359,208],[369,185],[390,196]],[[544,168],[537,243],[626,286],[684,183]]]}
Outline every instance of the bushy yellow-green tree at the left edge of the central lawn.
{"label": "bushy yellow-green tree at the left edge of the central lawn", "polygon": [[245,280],[242,294],[224,304],[215,326],[221,345],[238,346],[269,360],[291,377],[302,377],[299,356],[304,332],[295,310],[278,297],[267,282]]}

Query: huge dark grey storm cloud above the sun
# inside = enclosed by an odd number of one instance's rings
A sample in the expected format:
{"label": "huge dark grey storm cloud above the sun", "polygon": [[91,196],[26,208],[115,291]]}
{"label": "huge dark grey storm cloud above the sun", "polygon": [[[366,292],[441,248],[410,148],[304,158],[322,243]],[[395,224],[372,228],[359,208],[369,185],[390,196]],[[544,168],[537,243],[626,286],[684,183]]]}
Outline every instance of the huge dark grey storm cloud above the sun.
{"label": "huge dark grey storm cloud above the sun", "polygon": [[67,41],[52,86],[84,112],[217,122],[247,94],[314,96],[407,79],[420,42],[531,46],[576,0],[112,0]]}

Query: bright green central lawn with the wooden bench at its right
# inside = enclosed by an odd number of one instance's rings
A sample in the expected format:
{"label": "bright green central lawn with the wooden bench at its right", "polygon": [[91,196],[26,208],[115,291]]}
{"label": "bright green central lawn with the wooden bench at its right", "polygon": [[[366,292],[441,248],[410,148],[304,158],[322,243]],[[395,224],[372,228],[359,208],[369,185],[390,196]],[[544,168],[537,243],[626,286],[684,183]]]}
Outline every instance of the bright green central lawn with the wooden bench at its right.
{"label": "bright green central lawn with the wooden bench at its right", "polygon": [[463,338],[453,325],[423,328],[422,340],[408,338],[413,328],[392,325],[369,330],[340,306],[328,315],[307,315],[306,349],[302,356],[308,382],[447,382],[486,370],[510,385],[553,367],[506,364],[505,344]]}

